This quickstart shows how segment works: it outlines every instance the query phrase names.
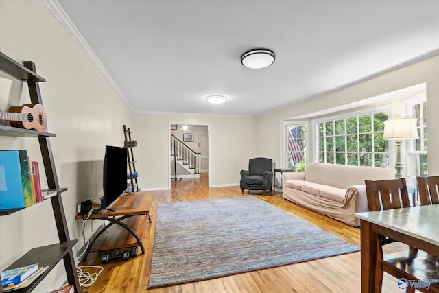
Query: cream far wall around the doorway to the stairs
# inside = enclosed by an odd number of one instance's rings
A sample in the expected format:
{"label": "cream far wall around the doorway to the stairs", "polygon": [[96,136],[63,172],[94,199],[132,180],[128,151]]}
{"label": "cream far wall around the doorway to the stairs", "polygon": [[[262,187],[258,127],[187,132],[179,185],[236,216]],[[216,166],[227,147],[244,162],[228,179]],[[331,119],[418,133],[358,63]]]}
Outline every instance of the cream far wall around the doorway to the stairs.
{"label": "cream far wall around the doorway to the stairs", "polygon": [[136,114],[134,157],[141,189],[169,188],[169,123],[209,127],[209,180],[212,187],[238,185],[239,172],[257,155],[254,117],[180,114]]}

